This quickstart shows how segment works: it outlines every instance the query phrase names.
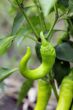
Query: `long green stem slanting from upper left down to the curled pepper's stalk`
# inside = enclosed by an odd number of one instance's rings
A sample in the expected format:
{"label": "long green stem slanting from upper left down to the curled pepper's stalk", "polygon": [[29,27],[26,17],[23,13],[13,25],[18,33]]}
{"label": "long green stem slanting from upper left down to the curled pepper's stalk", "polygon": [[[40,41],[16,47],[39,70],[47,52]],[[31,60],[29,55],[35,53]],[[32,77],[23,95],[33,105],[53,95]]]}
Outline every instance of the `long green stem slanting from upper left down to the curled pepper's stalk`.
{"label": "long green stem slanting from upper left down to the curled pepper's stalk", "polygon": [[35,37],[38,38],[39,35],[38,35],[36,29],[34,28],[33,24],[31,23],[30,19],[27,17],[27,15],[26,15],[26,13],[25,13],[25,11],[24,11],[24,8],[19,4],[18,0],[16,0],[16,2],[17,2],[17,5],[18,5],[19,8],[20,8],[20,11],[22,12],[23,16],[26,18],[26,20],[27,20],[28,24],[30,25],[32,31],[34,32]]}

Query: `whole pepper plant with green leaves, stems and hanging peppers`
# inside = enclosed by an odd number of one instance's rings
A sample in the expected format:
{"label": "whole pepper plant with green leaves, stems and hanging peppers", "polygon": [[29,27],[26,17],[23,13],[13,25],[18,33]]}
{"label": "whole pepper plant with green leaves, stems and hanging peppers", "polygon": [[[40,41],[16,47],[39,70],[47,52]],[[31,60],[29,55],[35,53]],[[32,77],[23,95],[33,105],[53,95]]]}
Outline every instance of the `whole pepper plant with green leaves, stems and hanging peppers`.
{"label": "whole pepper plant with green leaves, stems and hanging peppers", "polygon": [[[9,1],[9,0],[8,0]],[[10,34],[0,39],[0,55],[5,54],[15,40],[32,39],[40,66],[29,69],[31,49],[13,69],[0,67],[0,82],[12,73],[26,78],[18,96],[23,101],[35,80],[38,81],[37,104],[34,110],[46,110],[53,90],[56,110],[73,110],[73,0],[11,0],[16,15]],[[59,24],[60,23],[60,24]],[[61,25],[62,23],[62,25]],[[58,26],[57,26],[58,25]],[[21,46],[21,45],[20,45]],[[55,80],[60,88],[58,94]]]}

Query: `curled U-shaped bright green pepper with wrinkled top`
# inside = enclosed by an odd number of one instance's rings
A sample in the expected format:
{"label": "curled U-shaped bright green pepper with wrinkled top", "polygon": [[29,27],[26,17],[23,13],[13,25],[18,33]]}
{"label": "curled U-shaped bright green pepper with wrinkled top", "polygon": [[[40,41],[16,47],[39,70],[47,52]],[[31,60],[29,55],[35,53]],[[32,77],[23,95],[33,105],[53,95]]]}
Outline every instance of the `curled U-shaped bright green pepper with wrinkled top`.
{"label": "curled U-shaped bright green pepper with wrinkled top", "polygon": [[24,77],[33,80],[40,79],[44,77],[47,73],[49,73],[49,71],[53,67],[53,64],[55,62],[56,52],[52,44],[44,38],[43,34],[41,35],[40,53],[42,57],[42,64],[38,68],[29,69],[27,67],[27,63],[31,56],[31,50],[29,47],[27,48],[27,52],[21,59],[19,65],[20,73]]}

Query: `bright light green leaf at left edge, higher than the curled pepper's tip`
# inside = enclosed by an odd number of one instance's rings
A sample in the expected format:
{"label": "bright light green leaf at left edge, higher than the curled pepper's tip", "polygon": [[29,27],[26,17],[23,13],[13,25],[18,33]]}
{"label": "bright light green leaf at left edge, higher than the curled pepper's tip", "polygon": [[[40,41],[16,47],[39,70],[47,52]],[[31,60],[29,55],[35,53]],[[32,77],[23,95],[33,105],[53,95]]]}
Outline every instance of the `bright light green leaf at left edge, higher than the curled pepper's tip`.
{"label": "bright light green leaf at left edge, higher than the curled pepper's tip", "polygon": [[13,36],[0,39],[0,55],[3,55],[8,50],[12,44],[13,39]]}

